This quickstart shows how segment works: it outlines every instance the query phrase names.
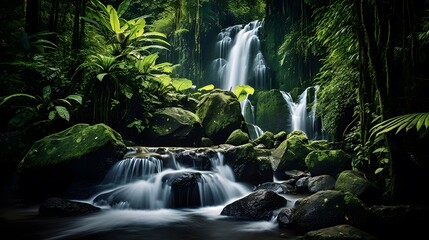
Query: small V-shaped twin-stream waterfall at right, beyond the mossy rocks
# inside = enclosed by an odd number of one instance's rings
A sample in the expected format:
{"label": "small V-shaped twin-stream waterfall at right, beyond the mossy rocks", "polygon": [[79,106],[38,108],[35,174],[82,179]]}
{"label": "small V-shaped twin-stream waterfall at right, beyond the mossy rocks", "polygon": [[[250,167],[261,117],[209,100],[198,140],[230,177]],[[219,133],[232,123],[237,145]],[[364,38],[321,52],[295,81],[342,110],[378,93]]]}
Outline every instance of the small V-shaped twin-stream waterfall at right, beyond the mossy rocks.
{"label": "small V-shaped twin-stream waterfall at right, beyond the mossy rocks", "polygon": [[[308,91],[314,90],[313,101],[308,103]],[[305,132],[309,139],[319,139],[320,127],[316,118],[317,106],[317,91],[319,86],[308,87],[298,96],[298,101],[295,102],[288,92],[280,91],[288,108],[291,116],[291,124],[289,131],[301,130]],[[310,111],[307,109],[308,104],[312,104]]]}

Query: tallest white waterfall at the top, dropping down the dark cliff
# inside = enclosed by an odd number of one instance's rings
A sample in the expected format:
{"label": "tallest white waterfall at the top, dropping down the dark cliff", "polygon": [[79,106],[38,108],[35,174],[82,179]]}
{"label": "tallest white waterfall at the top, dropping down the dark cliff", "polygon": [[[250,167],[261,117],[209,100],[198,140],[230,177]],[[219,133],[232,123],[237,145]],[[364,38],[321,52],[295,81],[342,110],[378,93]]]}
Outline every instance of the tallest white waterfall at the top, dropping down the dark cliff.
{"label": "tallest white waterfall at the top, dropping down the dark cliff", "polygon": [[256,89],[270,88],[267,68],[260,50],[258,31],[262,21],[235,25],[218,34],[213,75],[220,88],[234,91],[238,85],[249,84]]}

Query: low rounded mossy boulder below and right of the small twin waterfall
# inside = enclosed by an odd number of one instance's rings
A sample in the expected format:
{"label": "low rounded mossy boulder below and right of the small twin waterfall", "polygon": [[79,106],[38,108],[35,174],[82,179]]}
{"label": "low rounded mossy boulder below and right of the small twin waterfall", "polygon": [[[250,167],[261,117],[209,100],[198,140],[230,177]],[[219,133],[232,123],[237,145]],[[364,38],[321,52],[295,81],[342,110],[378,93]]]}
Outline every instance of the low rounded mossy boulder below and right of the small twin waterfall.
{"label": "low rounded mossy boulder below and right of the small twin waterfall", "polygon": [[343,150],[314,150],[305,158],[311,175],[328,174],[337,177],[340,172],[352,168],[352,159]]}

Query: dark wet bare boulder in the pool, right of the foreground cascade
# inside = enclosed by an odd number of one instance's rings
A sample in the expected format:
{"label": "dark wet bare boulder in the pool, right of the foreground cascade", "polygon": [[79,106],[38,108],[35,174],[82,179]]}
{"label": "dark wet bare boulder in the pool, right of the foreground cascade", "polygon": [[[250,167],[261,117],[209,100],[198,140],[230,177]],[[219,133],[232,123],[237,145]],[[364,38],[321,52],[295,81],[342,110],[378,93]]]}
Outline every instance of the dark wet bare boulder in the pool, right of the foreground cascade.
{"label": "dark wet bare boulder in the pool, right of the foreground cascade", "polygon": [[271,220],[273,211],[286,206],[287,200],[271,190],[257,190],[226,205],[221,215],[245,220]]}

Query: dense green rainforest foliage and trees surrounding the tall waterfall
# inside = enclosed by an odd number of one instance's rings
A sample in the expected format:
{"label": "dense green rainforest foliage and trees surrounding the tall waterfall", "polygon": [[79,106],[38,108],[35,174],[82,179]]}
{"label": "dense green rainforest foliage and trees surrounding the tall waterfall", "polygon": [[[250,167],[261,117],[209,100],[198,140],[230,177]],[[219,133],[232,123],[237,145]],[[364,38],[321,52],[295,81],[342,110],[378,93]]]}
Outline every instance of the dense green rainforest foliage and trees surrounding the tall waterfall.
{"label": "dense green rainforest foliage and trees surrounding the tall waterfall", "polygon": [[353,168],[386,203],[426,203],[429,1],[25,0],[0,19],[2,182],[76,123],[137,141],[156,109],[219,87],[207,69],[222,29],[261,20],[272,88],[320,86],[323,130]]}

